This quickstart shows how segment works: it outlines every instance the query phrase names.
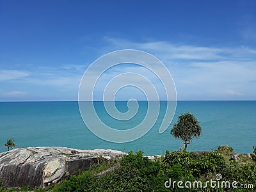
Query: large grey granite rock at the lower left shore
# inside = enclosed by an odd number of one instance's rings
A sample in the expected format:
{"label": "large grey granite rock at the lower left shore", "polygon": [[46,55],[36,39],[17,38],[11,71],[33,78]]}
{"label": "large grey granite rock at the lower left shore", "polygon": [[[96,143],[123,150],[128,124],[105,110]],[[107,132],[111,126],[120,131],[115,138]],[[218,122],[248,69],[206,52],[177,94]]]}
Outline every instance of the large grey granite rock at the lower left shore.
{"label": "large grey granite rock at the lower left shore", "polygon": [[5,187],[39,186],[59,182],[66,173],[87,170],[105,159],[121,157],[117,150],[78,150],[65,147],[17,148],[0,154],[0,181]]}

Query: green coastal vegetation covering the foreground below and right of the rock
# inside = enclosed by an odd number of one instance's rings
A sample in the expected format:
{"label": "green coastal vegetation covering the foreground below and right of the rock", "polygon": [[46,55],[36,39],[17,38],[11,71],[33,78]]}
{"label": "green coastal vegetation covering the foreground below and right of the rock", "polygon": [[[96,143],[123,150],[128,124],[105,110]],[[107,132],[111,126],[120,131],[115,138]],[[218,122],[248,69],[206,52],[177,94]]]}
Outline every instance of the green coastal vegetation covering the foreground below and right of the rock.
{"label": "green coastal vegetation covering the foreground below and right of the rock", "polygon": [[[142,151],[129,152],[122,159],[100,158],[99,164],[66,175],[55,186],[0,191],[255,191],[256,163],[249,158],[229,161],[226,157],[232,153],[228,146],[200,153],[166,150],[165,156],[150,160]],[[237,188],[232,187],[234,182]]]}

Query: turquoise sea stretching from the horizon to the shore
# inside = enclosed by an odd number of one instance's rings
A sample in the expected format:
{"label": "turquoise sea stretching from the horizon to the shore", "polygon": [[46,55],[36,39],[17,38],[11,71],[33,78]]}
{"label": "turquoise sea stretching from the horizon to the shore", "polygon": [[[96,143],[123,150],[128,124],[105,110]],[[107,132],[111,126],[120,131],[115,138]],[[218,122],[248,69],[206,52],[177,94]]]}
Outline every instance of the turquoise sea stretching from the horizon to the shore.
{"label": "turquoise sea stretching from the horizon to the shore", "polygon": [[[139,102],[138,116],[130,122],[110,118],[102,102],[95,102],[102,121],[115,129],[129,129],[146,114],[147,102]],[[170,129],[180,113],[193,113],[202,127],[202,136],[188,145],[188,150],[214,150],[218,145],[230,145],[235,152],[250,153],[256,145],[256,101],[178,101],[170,127],[159,134],[165,102],[161,102],[159,119],[142,138],[129,143],[101,140],[84,125],[77,102],[0,102],[0,144],[14,138],[17,147],[61,146],[81,149],[112,148],[143,150],[145,155],[164,154],[178,150],[182,142],[170,135]],[[116,102],[116,108],[127,111],[126,102]],[[0,145],[0,152],[5,151]]]}

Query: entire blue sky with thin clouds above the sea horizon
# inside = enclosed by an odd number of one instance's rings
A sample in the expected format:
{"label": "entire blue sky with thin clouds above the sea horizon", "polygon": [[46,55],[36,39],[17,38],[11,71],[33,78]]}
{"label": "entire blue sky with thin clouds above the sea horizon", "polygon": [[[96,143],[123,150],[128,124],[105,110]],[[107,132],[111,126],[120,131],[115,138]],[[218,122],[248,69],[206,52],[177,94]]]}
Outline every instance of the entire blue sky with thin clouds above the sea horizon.
{"label": "entire blue sky with thin clouds above the sea horizon", "polygon": [[[256,1],[1,0],[0,101],[77,100],[88,65],[118,49],[163,61],[178,100],[256,100],[255,10]],[[118,99],[143,98],[134,94]]]}

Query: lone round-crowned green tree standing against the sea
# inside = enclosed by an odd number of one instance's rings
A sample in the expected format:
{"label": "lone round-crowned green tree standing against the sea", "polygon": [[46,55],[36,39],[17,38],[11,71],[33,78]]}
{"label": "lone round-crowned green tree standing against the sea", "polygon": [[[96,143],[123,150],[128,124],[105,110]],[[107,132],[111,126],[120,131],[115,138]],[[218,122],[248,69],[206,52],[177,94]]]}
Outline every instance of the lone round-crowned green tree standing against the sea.
{"label": "lone round-crowned green tree standing against the sea", "polygon": [[191,113],[181,114],[178,122],[173,125],[171,134],[183,141],[185,150],[187,145],[191,143],[193,138],[198,138],[202,134],[202,129],[197,118]]}

